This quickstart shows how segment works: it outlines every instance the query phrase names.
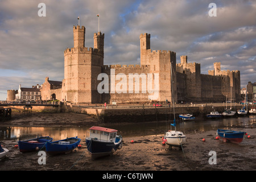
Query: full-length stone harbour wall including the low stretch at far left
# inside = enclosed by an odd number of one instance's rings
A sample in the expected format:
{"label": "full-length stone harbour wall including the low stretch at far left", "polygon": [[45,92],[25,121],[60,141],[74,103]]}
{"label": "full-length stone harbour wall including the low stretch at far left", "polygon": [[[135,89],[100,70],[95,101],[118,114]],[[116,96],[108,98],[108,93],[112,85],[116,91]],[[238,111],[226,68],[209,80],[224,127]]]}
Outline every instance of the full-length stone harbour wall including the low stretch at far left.
{"label": "full-length stone harbour wall including the low stretch at far left", "polygon": [[[249,105],[248,109],[255,105]],[[9,106],[10,107],[10,106]],[[232,106],[233,110],[241,109],[243,105]],[[123,106],[109,106],[105,108],[101,106],[85,106],[85,105],[72,105],[61,103],[59,106],[32,106],[32,109],[25,109],[24,106],[11,106],[11,108],[19,111],[32,112],[52,112],[52,113],[81,113],[91,115],[99,122],[104,123],[122,123],[122,122],[150,122],[150,121],[166,121],[174,118],[174,109],[168,105],[163,107],[155,106],[142,106],[142,105],[123,105]],[[213,106],[210,104],[197,106],[193,105],[179,105],[175,106],[175,116],[178,118],[179,114],[189,113],[195,116],[199,114],[208,114],[210,111],[218,111],[222,113],[226,106],[224,104]],[[230,106],[228,106],[230,108]]]}

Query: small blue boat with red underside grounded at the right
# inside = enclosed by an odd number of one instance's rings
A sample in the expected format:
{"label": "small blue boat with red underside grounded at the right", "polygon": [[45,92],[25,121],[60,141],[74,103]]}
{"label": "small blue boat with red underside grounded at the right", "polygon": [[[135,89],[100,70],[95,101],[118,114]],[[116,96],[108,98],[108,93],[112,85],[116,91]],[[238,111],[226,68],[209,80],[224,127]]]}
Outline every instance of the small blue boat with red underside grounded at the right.
{"label": "small blue boat with red underside grounded at the right", "polygon": [[224,142],[227,140],[234,143],[240,143],[243,140],[243,135],[245,133],[242,131],[233,131],[233,130],[217,130],[217,135],[222,138]]}

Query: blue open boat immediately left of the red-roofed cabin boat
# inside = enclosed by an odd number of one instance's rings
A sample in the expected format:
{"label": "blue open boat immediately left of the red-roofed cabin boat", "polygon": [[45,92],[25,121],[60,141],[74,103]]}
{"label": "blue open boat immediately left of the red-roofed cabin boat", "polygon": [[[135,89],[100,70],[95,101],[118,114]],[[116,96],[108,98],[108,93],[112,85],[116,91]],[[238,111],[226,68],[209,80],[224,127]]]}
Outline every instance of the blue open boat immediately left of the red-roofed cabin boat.
{"label": "blue open boat immediately left of the red-roofed cabin boat", "polygon": [[49,156],[59,155],[59,154],[68,154],[78,147],[81,142],[80,138],[71,137],[62,140],[57,140],[55,142],[46,143],[46,154]]}

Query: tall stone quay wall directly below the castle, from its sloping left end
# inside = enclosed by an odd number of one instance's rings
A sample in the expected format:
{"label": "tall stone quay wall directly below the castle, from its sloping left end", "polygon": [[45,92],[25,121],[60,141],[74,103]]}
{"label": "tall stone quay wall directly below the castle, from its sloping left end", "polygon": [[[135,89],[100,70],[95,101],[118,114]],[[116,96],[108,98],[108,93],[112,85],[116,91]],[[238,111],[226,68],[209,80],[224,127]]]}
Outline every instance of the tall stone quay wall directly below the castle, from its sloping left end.
{"label": "tall stone quay wall directly below the castle, from its sloping left end", "polygon": [[[232,109],[240,109],[239,106],[232,106]],[[249,107],[250,109],[250,107]],[[225,110],[224,106],[183,106],[175,107],[176,119],[179,114],[190,113],[195,116],[199,114],[207,114],[210,111],[216,110],[222,113]],[[150,121],[166,121],[174,118],[173,107],[141,107],[134,108],[110,108],[103,107],[89,108],[84,106],[71,106],[73,113],[82,113],[96,117],[98,121],[104,123],[123,123],[123,122],[150,122]]]}

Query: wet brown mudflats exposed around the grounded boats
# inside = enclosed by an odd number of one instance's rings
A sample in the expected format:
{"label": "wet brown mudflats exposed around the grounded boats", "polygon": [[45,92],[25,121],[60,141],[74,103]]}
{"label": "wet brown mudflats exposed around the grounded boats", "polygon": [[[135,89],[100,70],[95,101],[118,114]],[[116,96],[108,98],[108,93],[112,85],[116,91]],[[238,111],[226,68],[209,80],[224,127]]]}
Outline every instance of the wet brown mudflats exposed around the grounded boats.
{"label": "wet brown mudflats exposed around the grounded boats", "polygon": [[[36,118],[36,119],[35,119]],[[32,116],[17,114],[11,121],[0,126],[84,126],[97,124],[97,120],[75,113],[33,113]],[[21,153],[16,140],[2,140],[2,146],[10,150],[0,161],[3,171],[255,171],[256,170],[256,123],[251,127],[232,127],[245,131],[240,144],[216,139],[216,130],[187,133],[183,150],[162,144],[163,135],[123,138],[123,147],[113,155],[92,160],[86,150],[85,139],[81,148],[71,154],[46,156],[46,164],[39,164],[38,152]],[[202,139],[205,139],[205,142]],[[134,143],[130,141],[134,140]],[[210,151],[216,152],[217,164],[209,164]]]}

